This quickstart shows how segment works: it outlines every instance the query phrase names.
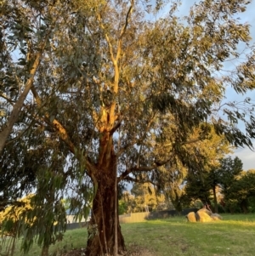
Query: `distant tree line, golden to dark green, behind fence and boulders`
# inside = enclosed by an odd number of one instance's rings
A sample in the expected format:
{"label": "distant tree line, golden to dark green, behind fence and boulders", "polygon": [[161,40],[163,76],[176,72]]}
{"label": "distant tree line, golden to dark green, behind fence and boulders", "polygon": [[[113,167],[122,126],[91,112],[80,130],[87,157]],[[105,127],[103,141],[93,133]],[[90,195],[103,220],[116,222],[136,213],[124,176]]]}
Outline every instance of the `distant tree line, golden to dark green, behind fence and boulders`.
{"label": "distant tree line, golden to dark green, behind fence and boulders", "polygon": [[[149,184],[134,184],[131,193],[119,198],[119,213],[144,212],[175,208],[201,208],[207,205],[215,213],[255,212],[255,169],[243,171],[241,159],[231,156],[219,160],[217,168],[189,172],[178,186],[178,201],[156,191]],[[172,188],[175,189],[176,188]],[[172,191],[173,192],[173,191]]]}

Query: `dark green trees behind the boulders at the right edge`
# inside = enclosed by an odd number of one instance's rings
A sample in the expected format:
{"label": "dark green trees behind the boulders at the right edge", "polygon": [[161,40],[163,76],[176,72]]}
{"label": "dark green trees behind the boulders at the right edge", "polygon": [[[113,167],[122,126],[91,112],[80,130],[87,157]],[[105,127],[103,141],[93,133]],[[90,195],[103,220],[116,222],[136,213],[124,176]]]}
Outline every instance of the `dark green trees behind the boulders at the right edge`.
{"label": "dark green trees behind the boulders at the right edge", "polygon": [[183,203],[189,203],[196,199],[203,203],[209,203],[212,199],[213,188],[218,188],[221,201],[221,213],[247,213],[253,211],[254,198],[254,171],[242,171],[242,162],[236,156],[230,156],[219,160],[219,166],[212,168],[209,173],[189,174],[187,184],[184,187]]}

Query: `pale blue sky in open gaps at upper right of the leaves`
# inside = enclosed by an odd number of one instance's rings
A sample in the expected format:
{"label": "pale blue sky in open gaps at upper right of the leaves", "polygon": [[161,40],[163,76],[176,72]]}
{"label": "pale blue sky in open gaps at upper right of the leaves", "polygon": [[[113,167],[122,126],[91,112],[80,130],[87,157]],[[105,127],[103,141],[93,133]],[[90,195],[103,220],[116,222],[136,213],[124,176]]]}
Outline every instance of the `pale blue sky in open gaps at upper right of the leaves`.
{"label": "pale blue sky in open gaps at upper right of the leaves", "polygon": [[[180,16],[184,16],[189,14],[190,7],[194,3],[199,3],[200,1],[195,0],[182,0],[182,5],[178,7],[178,14]],[[250,32],[252,36],[252,42],[255,43],[255,0],[251,1],[249,5],[247,5],[246,12],[242,14],[238,14],[238,17],[241,18],[241,22],[247,22],[251,25]],[[167,8],[163,9],[163,14],[167,14]],[[253,26],[252,26],[253,25]],[[242,46],[241,46],[242,47]],[[255,100],[255,90],[253,92],[249,92],[246,95],[236,94],[232,88],[227,88],[226,90],[226,100],[243,100],[246,96],[251,97],[252,100]],[[252,140],[254,151],[251,151],[249,148],[238,148],[234,151],[232,157],[238,156],[243,163],[243,170],[255,169],[255,139]]]}

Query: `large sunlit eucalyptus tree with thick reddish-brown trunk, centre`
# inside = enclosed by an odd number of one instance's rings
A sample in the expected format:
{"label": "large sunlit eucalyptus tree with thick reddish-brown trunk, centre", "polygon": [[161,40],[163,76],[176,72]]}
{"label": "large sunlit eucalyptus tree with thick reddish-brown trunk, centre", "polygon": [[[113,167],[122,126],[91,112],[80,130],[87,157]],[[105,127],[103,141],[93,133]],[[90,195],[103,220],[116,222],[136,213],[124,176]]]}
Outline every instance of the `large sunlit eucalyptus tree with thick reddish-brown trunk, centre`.
{"label": "large sunlit eucalyptus tree with thick reddish-brown trunk, centre", "polygon": [[[235,70],[221,73],[226,60],[238,59],[238,43],[250,47],[249,26],[236,18],[246,1],[202,1],[183,20],[175,14],[175,1],[165,6],[166,16],[148,19],[148,12],[158,17],[162,2],[156,1],[155,8],[134,0],[19,2],[37,7],[34,13],[37,19],[43,15],[43,31],[51,32],[33,76],[32,100],[25,101],[25,117],[14,126],[8,143],[15,134],[27,145],[50,134],[70,162],[68,168],[62,165],[66,179],[77,179],[77,188],[82,188],[82,179],[90,177],[90,256],[125,249],[115,218],[116,183],[151,179],[160,166],[179,161],[195,168],[200,154],[195,159],[185,145],[201,122],[211,123],[231,144],[252,147],[255,120],[249,100],[243,108],[222,104],[227,86],[237,93],[254,87],[252,48]],[[34,26],[29,15],[26,20],[28,27]],[[29,33],[37,38],[37,30]],[[37,51],[29,43],[22,47],[22,37],[15,35],[20,54],[23,48],[26,55]],[[33,45],[41,47],[42,42]],[[16,68],[29,66],[25,60],[10,61]],[[244,133],[236,125],[239,120],[246,125]],[[201,134],[207,134],[207,125]],[[159,150],[165,141],[169,146]]]}

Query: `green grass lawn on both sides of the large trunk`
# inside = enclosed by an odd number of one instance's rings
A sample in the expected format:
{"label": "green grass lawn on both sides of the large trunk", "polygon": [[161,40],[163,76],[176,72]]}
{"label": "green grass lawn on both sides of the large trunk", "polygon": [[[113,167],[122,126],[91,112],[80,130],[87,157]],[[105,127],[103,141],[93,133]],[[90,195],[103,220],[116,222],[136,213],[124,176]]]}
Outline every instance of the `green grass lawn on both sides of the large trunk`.
{"label": "green grass lawn on both sides of the large trunk", "polygon": [[[255,214],[223,216],[223,221],[211,223],[188,223],[184,217],[174,217],[123,224],[122,234],[127,248],[146,247],[156,256],[254,255]],[[85,247],[86,237],[84,228],[68,230],[50,252]],[[28,255],[40,255],[40,248],[33,246]]]}

